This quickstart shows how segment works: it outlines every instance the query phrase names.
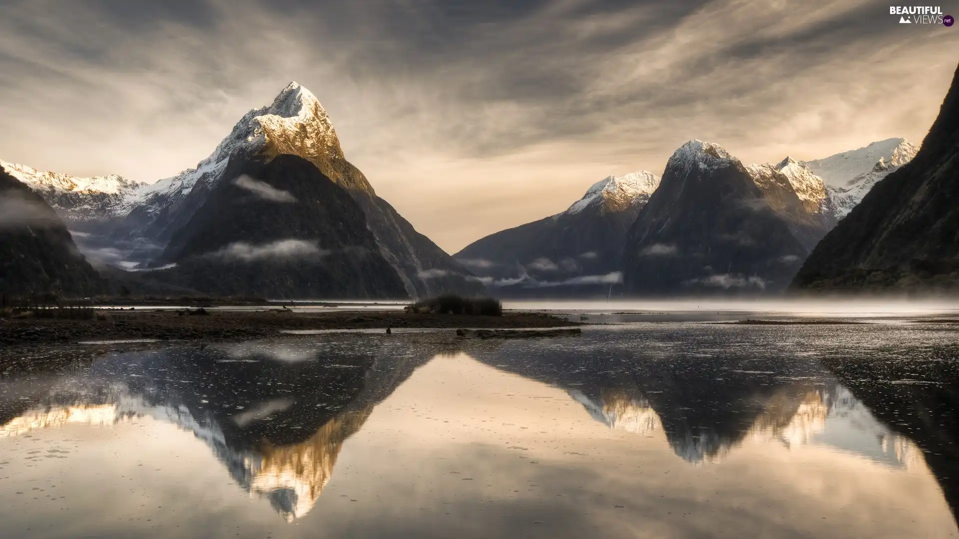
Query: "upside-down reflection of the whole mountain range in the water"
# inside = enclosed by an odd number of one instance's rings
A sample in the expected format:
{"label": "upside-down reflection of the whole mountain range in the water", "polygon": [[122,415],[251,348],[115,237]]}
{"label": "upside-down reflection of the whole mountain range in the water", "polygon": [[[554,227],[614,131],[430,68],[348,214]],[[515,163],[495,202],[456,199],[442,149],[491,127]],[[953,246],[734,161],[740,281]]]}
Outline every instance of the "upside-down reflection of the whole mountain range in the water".
{"label": "upside-down reflection of the whole mountain range in the water", "polygon": [[[558,387],[584,417],[651,443],[665,438],[670,455],[704,471],[720,472],[746,446],[769,453],[769,444],[788,452],[823,448],[893,470],[925,473],[928,465],[954,519],[955,338],[897,331],[645,326],[591,329],[573,340],[460,341],[452,352],[457,362]],[[251,496],[300,521],[320,504],[347,439],[417,368],[449,358],[449,347],[422,336],[330,336],[112,354],[74,371],[0,382],[0,443],[149,417],[192,432]],[[444,402],[460,410],[446,421],[470,415],[483,425],[470,432],[492,428],[482,423],[481,403]],[[563,428],[543,421],[540,429]]]}

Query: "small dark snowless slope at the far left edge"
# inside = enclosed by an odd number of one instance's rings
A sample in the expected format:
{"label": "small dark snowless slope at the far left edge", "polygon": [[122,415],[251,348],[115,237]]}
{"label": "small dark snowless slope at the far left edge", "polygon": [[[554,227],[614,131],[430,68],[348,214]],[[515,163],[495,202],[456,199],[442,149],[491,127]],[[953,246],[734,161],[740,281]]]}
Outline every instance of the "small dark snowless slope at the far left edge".
{"label": "small dark snowless slope at the far left edge", "polygon": [[57,212],[0,170],[0,293],[82,296],[101,293],[104,286]]}

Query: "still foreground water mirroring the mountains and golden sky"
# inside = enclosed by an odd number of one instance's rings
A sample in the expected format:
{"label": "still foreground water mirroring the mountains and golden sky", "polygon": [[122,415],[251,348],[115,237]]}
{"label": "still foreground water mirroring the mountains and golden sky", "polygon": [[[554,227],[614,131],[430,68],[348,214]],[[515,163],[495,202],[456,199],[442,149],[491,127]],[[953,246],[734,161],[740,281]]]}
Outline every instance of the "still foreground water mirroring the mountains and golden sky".
{"label": "still foreground water mirroring the mountains and golden sky", "polygon": [[959,331],[320,335],[0,381],[3,537],[959,537]]}

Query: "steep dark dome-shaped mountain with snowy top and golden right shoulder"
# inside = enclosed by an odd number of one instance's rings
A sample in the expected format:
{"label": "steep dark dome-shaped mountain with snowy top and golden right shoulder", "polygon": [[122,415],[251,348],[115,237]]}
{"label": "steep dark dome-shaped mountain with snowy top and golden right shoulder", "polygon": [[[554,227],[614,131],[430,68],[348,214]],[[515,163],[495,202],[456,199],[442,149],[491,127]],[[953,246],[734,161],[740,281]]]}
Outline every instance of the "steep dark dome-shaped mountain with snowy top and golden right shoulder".
{"label": "steep dark dome-shaped mountain with snowy top and golden right shoulder", "polygon": [[783,290],[832,223],[817,179],[792,159],[747,168],[716,144],[684,144],[626,236],[625,292]]}

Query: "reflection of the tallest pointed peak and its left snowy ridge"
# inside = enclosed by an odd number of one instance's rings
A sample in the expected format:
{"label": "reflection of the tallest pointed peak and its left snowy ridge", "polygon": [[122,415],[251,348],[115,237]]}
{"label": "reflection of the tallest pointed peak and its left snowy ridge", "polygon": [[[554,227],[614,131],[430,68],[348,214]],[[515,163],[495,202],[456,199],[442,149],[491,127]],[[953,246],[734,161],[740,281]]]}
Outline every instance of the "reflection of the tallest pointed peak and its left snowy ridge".
{"label": "reflection of the tallest pointed peak and its left snowy ridge", "polygon": [[333,351],[335,363],[316,361],[314,346],[262,343],[117,355],[56,384],[0,426],[0,438],[142,416],[169,421],[292,522],[316,504],[343,441],[433,355],[389,345]]}

